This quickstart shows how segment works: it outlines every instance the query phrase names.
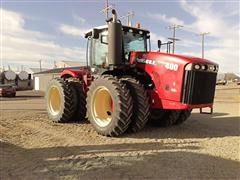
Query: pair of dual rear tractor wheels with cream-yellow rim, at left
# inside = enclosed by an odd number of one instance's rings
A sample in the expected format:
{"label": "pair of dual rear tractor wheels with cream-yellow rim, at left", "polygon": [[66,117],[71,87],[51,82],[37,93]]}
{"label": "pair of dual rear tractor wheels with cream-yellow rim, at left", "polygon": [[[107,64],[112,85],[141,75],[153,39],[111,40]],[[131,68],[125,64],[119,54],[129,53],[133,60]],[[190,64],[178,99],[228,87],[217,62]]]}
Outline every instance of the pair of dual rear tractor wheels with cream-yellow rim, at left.
{"label": "pair of dual rear tractor wheels with cream-yellow rim, at left", "polygon": [[47,112],[53,122],[79,121],[86,116],[86,95],[80,82],[55,78],[47,87]]}

